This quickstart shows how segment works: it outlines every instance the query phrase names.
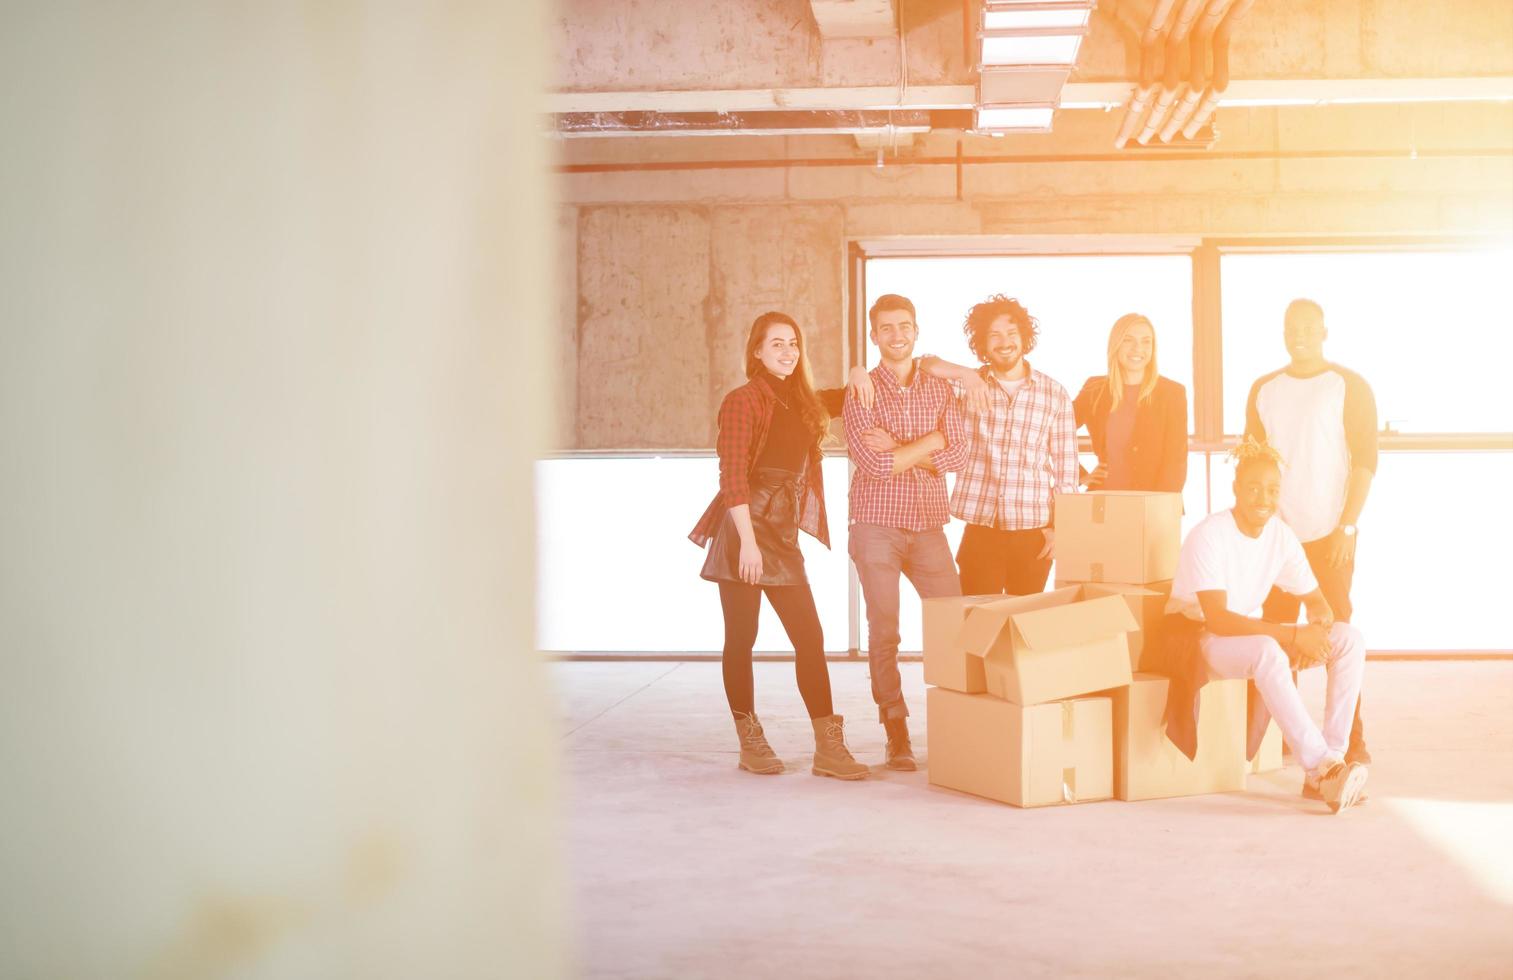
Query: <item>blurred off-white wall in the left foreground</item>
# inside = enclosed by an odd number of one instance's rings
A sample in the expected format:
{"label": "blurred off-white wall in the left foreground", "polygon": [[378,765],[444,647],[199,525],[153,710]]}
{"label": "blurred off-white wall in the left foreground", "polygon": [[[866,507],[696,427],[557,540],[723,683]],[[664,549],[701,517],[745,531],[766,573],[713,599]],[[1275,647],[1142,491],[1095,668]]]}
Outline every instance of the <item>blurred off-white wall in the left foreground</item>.
{"label": "blurred off-white wall in the left foreground", "polygon": [[0,975],[567,971],[543,8],[0,9]]}

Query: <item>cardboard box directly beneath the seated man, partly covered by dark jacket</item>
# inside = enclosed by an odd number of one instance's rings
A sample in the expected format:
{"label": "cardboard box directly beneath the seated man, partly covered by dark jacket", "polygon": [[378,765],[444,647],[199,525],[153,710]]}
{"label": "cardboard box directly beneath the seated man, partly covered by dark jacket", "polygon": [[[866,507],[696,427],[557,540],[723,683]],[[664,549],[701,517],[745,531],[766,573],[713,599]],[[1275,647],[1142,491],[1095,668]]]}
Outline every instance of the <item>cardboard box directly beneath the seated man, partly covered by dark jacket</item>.
{"label": "cardboard box directly beneath the seated man, partly covered by dark jacket", "polygon": [[1121,800],[1236,792],[1245,788],[1245,681],[1209,681],[1198,708],[1198,758],[1167,740],[1170,681],[1135,675],[1109,691],[1114,703],[1114,794]]}

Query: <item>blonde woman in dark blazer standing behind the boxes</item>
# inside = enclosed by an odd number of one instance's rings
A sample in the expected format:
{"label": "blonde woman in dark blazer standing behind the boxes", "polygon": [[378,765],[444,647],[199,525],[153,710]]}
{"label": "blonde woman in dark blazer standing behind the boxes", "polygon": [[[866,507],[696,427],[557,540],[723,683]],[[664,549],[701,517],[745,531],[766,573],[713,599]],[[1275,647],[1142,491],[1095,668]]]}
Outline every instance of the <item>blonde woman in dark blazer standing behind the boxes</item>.
{"label": "blonde woman in dark blazer standing behind the boxes", "polygon": [[1088,490],[1167,490],[1188,481],[1188,389],[1156,368],[1156,330],[1126,313],[1109,331],[1109,374],[1088,378],[1073,401],[1098,467]]}

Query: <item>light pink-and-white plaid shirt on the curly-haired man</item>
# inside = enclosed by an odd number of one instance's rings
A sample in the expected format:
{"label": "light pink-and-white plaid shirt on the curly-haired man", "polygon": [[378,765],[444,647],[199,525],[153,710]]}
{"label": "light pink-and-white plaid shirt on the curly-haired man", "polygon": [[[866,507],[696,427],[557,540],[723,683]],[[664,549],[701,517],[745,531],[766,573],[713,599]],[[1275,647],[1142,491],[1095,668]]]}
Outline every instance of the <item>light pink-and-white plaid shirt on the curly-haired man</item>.
{"label": "light pink-and-white plaid shirt on the curly-haired man", "polygon": [[1012,399],[986,366],[979,374],[988,383],[993,408],[970,417],[967,464],[956,475],[950,513],[1005,531],[1044,528],[1056,492],[1077,490],[1071,396],[1035,369]]}

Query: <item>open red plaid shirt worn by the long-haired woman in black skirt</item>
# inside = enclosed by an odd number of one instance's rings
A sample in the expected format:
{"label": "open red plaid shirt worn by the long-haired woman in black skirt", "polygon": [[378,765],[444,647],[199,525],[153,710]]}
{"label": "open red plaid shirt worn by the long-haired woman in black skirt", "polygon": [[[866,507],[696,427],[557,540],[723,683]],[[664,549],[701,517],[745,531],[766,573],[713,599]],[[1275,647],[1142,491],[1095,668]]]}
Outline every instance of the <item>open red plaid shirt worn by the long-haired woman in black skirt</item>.
{"label": "open red plaid shirt worn by the long-haired woman in black skirt", "polygon": [[[710,501],[688,540],[704,547],[720,529],[725,511],[750,504],[750,469],[772,428],[772,407],[778,401],[760,377],[725,396],[720,402],[720,436],[714,443],[720,455],[720,492]],[[799,499],[799,528],[808,531],[826,547],[831,529],[825,519],[825,475],[820,469],[820,443],[809,446],[809,464],[803,472],[803,493]]]}

